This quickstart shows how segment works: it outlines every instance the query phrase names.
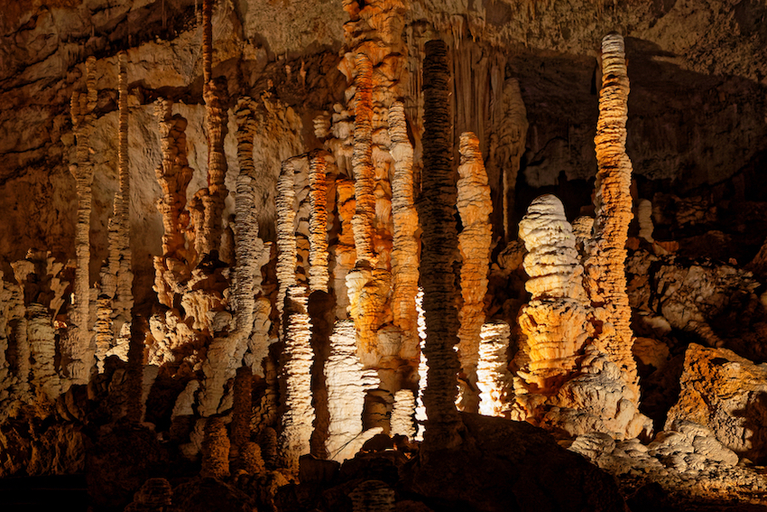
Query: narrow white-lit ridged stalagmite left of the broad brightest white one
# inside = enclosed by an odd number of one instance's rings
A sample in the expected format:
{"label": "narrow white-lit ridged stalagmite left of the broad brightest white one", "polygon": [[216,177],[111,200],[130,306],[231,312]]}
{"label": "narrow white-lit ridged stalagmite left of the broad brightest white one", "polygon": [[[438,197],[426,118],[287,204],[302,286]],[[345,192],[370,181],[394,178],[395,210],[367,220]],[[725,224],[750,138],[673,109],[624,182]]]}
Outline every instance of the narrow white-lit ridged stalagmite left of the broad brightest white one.
{"label": "narrow white-lit ridged stalagmite left of the broad brightest white one", "polygon": [[282,465],[298,470],[299,457],[310,452],[311,425],[311,323],[307,313],[306,288],[291,286],[285,299],[285,326],[280,368]]}

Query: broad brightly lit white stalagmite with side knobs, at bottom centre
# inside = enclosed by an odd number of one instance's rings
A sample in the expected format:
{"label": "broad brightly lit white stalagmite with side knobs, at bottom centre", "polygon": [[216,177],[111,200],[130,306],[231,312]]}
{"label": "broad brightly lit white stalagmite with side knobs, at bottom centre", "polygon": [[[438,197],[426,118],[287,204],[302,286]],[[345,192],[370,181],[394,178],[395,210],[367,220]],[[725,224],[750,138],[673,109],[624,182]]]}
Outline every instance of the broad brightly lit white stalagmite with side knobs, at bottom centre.
{"label": "broad brightly lit white stalagmite with side knobs, at bottom centre", "polygon": [[365,393],[379,385],[374,369],[365,370],[356,355],[356,333],[352,321],[337,321],[330,335],[330,356],[325,364],[328,386],[328,441],[325,446],[333,461],[346,461],[362,445],[381,433],[381,428],[363,432]]}

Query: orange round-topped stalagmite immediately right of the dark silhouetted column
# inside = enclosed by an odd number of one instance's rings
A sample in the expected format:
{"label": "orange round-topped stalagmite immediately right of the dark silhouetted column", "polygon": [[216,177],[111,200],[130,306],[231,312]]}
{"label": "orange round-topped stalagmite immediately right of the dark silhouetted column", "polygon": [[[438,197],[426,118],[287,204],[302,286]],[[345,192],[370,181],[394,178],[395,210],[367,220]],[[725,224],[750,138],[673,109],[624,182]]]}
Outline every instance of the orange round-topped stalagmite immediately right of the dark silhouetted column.
{"label": "orange round-topped stalagmite immediately right of the dark silhouetted column", "polygon": [[458,312],[458,353],[467,385],[461,386],[459,402],[464,411],[476,413],[479,406],[476,363],[479,357],[480,332],[485,323],[485,294],[492,242],[490,215],[493,203],[490,200],[490,186],[487,184],[485,164],[482,162],[476,135],[471,132],[461,134],[460,154],[457,207],[463,229],[458,235],[458,250],[462,257],[461,294],[464,302]]}

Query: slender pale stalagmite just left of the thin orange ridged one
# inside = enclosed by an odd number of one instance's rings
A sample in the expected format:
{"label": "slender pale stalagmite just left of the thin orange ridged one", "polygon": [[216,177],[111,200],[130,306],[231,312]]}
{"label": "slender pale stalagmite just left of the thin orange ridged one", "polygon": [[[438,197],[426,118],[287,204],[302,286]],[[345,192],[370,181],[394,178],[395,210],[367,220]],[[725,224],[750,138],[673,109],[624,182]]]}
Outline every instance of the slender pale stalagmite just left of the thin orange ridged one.
{"label": "slender pale stalagmite just left of the thin orange ridged one", "polygon": [[277,294],[277,310],[282,321],[285,298],[288,289],[296,285],[296,218],[294,166],[291,160],[282,162],[280,179],[277,182],[277,196],[274,198],[277,208],[277,282],[280,291]]}

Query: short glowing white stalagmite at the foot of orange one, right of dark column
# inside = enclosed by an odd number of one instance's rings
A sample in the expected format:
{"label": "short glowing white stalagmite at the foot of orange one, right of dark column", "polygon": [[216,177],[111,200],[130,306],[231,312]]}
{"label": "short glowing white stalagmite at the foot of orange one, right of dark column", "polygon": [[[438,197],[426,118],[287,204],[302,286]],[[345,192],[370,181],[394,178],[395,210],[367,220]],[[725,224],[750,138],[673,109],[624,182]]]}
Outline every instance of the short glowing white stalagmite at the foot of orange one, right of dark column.
{"label": "short glowing white stalagmite at the foot of orange one, right of dark column", "polygon": [[508,417],[512,405],[513,377],[508,370],[509,324],[494,321],[482,326],[476,386],[479,414]]}

